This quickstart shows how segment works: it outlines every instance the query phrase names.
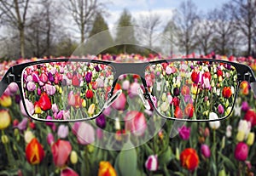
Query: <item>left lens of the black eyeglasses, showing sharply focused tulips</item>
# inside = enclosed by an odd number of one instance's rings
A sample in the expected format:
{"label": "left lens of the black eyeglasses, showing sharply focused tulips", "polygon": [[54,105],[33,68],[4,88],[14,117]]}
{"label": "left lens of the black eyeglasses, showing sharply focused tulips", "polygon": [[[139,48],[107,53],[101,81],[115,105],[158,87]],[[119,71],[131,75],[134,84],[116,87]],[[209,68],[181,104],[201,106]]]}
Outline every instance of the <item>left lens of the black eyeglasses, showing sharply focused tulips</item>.
{"label": "left lens of the black eyeglasses, showing sharply focused tulips", "polygon": [[97,116],[113,83],[110,65],[56,61],[22,71],[26,110],[36,119],[80,120]]}

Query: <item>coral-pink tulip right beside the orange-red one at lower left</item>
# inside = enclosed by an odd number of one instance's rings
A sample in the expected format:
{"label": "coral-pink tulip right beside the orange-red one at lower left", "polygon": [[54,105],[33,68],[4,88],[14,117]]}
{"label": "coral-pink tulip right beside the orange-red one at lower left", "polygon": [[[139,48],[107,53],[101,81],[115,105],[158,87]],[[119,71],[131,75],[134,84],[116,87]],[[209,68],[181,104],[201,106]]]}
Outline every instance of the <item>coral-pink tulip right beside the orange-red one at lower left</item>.
{"label": "coral-pink tulip right beside the orange-red one at lower left", "polygon": [[68,141],[58,139],[51,145],[51,152],[56,167],[64,167],[68,156],[72,150],[72,146]]}

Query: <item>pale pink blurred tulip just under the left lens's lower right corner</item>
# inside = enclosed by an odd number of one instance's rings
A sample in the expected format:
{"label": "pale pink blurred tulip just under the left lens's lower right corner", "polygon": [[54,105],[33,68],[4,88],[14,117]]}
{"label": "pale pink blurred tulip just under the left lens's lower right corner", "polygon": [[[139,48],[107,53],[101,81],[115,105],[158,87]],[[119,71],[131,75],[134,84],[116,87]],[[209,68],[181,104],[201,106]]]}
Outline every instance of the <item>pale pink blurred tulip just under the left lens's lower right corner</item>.
{"label": "pale pink blurred tulip just under the left lens's lower right corner", "polygon": [[89,145],[95,141],[94,128],[87,122],[81,122],[76,133],[80,145]]}

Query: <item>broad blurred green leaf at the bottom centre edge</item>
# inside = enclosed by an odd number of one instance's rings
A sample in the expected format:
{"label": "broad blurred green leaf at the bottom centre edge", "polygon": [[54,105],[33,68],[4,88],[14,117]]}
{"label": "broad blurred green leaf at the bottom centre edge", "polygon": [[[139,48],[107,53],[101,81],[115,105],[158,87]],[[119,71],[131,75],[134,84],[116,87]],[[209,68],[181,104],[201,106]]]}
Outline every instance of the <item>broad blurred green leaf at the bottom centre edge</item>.
{"label": "broad blurred green leaf at the bottom centre edge", "polygon": [[130,140],[127,141],[123,146],[123,150],[120,151],[114,167],[121,176],[137,174],[137,152]]}

